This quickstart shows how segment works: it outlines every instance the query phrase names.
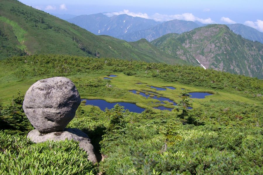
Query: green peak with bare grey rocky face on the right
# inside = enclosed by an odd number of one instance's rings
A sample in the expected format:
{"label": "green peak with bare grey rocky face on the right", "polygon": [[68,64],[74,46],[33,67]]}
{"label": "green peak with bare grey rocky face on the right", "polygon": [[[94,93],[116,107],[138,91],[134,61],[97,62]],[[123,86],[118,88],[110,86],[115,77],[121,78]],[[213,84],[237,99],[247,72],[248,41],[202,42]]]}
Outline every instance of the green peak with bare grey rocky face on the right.
{"label": "green peak with bare grey rocky face on the right", "polygon": [[225,25],[199,27],[178,36],[168,34],[151,43],[181,59],[196,59],[206,68],[263,78],[263,45],[234,34]]}

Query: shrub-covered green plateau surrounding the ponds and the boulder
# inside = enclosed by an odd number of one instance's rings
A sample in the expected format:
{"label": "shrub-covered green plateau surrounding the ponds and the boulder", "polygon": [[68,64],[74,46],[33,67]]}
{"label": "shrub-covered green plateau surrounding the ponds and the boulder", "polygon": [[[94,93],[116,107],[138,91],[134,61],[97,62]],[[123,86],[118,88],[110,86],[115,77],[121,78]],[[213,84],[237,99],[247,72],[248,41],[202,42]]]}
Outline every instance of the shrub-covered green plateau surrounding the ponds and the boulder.
{"label": "shrub-covered green plateau surrounding the ponds and the boulder", "polygon": [[[117,77],[103,79],[110,74]],[[54,76],[70,78],[81,98],[146,108],[101,111],[81,103],[67,127],[89,135],[103,157],[96,165],[74,141],[26,139],[33,127],[22,109],[24,94],[37,80]],[[151,91],[157,98],[129,90]],[[180,104],[184,92],[214,95],[193,101],[185,96],[193,107],[185,113],[153,108],[171,107],[158,97]],[[0,60],[0,174],[262,174],[262,94],[262,80],[201,67],[65,55]]]}

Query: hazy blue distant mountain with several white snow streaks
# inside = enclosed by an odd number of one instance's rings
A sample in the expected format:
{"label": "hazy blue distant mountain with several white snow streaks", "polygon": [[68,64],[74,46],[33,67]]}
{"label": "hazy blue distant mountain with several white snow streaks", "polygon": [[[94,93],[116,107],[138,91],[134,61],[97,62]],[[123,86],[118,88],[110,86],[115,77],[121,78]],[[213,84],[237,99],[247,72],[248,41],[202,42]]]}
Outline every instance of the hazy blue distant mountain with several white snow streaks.
{"label": "hazy blue distant mountain with several white snow streaks", "polygon": [[154,20],[132,17],[126,14],[107,17],[102,13],[80,15],[67,21],[96,35],[109,35],[113,37],[147,29],[160,23]]}

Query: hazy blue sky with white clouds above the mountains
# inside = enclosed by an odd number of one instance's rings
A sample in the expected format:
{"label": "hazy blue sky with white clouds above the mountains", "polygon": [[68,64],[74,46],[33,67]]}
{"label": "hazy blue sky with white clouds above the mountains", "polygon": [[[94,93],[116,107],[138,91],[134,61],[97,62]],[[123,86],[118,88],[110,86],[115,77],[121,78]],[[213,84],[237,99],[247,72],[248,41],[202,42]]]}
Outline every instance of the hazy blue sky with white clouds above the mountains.
{"label": "hazy blue sky with white clouds above the mountains", "polygon": [[[20,0],[48,13],[107,15],[126,13],[157,21],[172,19],[198,21],[203,24],[241,23],[263,31],[263,0]],[[115,13],[113,13],[115,12]]]}

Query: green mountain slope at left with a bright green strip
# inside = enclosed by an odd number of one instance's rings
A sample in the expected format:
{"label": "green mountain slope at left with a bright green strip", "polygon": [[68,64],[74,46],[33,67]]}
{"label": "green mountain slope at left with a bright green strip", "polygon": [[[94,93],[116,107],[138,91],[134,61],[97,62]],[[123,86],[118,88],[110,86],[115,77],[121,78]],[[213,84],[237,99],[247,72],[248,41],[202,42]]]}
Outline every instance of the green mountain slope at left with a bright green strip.
{"label": "green mountain slope at left with a bright green strip", "polygon": [[13,55],[49,53],[186,63],[166,54],[156,59],[149,52],[133,48],[126,41],[94,35],[75,24],[15,0],[0,0],[0,33],[0,59]]}

